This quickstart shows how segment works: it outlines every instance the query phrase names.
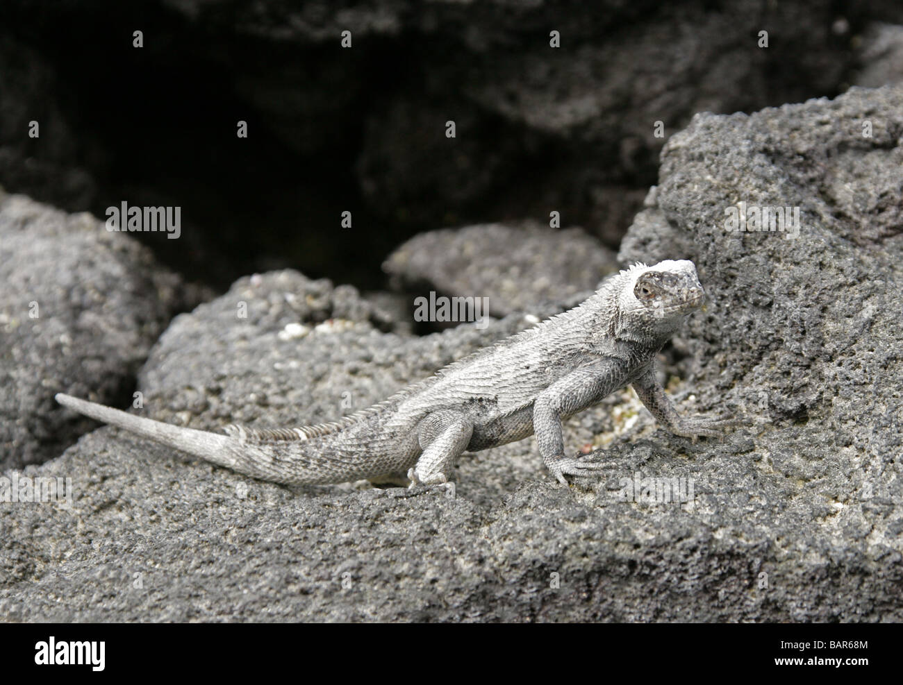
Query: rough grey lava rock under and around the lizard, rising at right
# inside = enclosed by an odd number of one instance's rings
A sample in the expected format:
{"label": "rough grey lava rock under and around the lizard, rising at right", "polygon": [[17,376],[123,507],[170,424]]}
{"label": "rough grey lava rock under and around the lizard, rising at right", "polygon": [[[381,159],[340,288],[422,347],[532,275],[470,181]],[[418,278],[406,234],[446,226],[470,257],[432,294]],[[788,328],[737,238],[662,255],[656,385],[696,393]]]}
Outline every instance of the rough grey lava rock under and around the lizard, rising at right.
{"label": "rough grey lava rock under and around the lizard, rising at right", "polygon": [[[72,477],[68,511],[0,504],[0,616],[903,620],[901,134],[901,88],[854,89],[697,116],[666,146],[621,257],[699,267],[707,309],[666,368],[681,412],[744,417],[723,442],[616,393],[565,430],[607,448],[601,477],[556,486],[525,440],[463,458],[451,499],[269,485],[105,428],[25,471]],[[798,236],[725,230],[741,200],[799,206]],[[334,418],[526,324],[398,336],[352,291],[266,274],[173,322],[144,412]],[[625,501],[635,474],[694,496]]]}

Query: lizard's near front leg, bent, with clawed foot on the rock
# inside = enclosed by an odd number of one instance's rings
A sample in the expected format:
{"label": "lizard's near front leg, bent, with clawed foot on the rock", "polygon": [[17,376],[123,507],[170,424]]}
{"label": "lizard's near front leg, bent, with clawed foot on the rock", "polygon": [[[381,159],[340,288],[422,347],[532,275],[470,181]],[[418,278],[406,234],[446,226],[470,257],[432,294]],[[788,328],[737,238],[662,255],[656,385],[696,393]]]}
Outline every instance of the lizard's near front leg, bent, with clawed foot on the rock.
{"label": "lizard's near front leg, bent, with clawed foot on the rock", "polygon": [[562,419],[601,402],[625,382],[625,364],[605,357],[581,366],[549,385],[533,404],[533,431],[545,467],[563,485],[565,476],[582,476],[602,467],[599,462],[566,457],[562,438]]}

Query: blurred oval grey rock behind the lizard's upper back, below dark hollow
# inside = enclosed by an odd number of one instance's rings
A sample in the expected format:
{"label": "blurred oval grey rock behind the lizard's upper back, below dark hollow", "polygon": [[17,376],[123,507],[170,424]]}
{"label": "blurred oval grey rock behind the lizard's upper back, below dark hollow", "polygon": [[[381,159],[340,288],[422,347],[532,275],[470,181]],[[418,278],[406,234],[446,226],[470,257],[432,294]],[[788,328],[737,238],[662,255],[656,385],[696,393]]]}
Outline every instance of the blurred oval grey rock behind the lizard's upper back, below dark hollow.
{"label": "blurred oval grey rock behind the lizard's upper back, below dark hollow", "polygon": [[414,236],[383,264],[396,287],[488,297],[493,316],[594,291],[618,271],[615,255],[580,228],[532,222],[443,228]]}

